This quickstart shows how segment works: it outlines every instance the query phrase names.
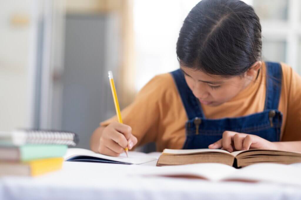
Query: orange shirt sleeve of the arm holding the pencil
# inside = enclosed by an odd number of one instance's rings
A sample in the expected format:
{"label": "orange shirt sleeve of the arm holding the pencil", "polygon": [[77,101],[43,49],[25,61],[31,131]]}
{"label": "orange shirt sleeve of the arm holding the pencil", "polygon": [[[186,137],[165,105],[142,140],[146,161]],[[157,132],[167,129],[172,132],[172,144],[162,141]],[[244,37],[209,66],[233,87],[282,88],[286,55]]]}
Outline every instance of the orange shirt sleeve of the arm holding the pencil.
{"label": "orange shirt sleeve of the arm holding the pencil", "polygon": [[[155,142],[160,122],[159,104],[164,87],[164,76],[151,79],[137,94],[135,100],[121,111],[123,124],[132,127],[132,134],[137,137],[136,146]],[[116,115],[100,123],[107,126],[118,121]]]}

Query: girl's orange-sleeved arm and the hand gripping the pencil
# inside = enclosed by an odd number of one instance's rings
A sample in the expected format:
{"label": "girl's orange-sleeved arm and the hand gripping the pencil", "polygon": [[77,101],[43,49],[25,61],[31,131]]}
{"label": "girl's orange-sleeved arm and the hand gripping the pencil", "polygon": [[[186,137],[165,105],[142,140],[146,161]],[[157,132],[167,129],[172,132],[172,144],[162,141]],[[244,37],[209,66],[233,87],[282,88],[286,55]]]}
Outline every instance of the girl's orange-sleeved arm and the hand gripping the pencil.
{"label": "girl's orange-sleeved arm and the hand gripping the pencil", "polygon": [[91,150],[118,156],[127,145],[132,149],[134,145],[154,142],[160,117],[158,102],[164,91],[162,85],[166,85],[162,81],[165,81],[162,76],[153,78],[141,89],[134,102],[121,111],[124,124],[117,123],[116,116],[102,122],[91,136]]}

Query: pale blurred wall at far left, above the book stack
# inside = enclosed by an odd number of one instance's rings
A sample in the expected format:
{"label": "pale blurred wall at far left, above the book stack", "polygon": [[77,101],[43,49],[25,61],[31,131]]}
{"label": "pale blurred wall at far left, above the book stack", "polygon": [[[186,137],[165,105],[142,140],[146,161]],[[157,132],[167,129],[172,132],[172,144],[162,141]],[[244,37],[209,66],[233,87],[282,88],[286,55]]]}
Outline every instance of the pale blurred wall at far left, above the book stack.
{"label": "pale blurred wall at far left, above the book stack", "polygon": [[2,0],[0,7],[0,130],[28,127],[30,12],[33,1]]}

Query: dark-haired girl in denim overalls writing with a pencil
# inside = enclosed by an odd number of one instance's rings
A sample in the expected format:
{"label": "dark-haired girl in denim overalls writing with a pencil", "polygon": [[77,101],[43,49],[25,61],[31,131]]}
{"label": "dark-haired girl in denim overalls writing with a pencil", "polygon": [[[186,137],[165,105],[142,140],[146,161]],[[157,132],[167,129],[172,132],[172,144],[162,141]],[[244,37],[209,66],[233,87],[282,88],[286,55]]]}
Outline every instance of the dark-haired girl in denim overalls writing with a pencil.
{"label": "dark-haired girl in denim overalls writing with a pencil", "polygon": [[[301,151],[301,78],[261,61],[261,25],[239,0],[203,0],[178,37],[180,69],[154,77],[116,117],[100,124],[91,149],[118,156],[128,146]],[[279,142],[281,141],[281,142]]]}

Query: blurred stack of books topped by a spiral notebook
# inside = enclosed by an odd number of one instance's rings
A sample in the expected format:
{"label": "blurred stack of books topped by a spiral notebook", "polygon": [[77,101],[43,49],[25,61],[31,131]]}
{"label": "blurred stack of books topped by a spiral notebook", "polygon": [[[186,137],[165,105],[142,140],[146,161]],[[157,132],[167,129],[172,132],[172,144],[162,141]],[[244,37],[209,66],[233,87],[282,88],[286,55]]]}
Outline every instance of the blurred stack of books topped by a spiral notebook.
{"label": "blurred stack of books topped by a spiral notebook", "polygon": [[0,132],[0,176],[36,176],[61,169],[68,146],[77,142],[71,132]]}

